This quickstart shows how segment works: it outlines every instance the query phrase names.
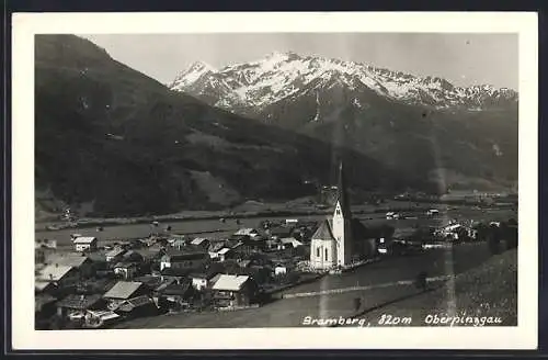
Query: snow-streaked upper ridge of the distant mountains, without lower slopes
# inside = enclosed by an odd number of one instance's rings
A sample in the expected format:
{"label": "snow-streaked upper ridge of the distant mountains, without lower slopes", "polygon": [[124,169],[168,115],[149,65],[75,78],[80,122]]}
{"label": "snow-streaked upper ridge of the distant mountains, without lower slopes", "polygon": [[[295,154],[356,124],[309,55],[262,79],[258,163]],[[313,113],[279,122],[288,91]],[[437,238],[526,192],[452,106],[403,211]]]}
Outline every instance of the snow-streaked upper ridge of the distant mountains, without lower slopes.
{"label": "snow-streaked upper ridge of the distant mountains, without lower slopes", "polygon": [[[318,105],[322,92],[343,89],[356,106],[372,91],[389,101],[436,109],[484,110],[512,105],[517,92],[491,86],[455,87],[437,77],[416,77],[400,71],[323,57],[273,53],[263,59],[214,69],[196,63],[170,85],[172,90],[237,113],[254,115],[275,103],[313,94]],[[367,101],[365,101],[367,102]]]}

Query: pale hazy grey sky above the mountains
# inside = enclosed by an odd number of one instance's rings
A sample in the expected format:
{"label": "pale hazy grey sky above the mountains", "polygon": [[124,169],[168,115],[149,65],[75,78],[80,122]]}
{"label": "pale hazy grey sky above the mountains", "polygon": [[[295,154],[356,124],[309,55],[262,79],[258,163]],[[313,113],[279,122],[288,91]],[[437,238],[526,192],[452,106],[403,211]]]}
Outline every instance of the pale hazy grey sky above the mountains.
{"label": "pale hazy grey sky above the mountains", "polygon": [[517,35],[412,33],[247,33],[82,35],[113,58],[163,83],[194,61],[216,68],[272,52],[365,63],[456,86],[479,83],[517,90]]}

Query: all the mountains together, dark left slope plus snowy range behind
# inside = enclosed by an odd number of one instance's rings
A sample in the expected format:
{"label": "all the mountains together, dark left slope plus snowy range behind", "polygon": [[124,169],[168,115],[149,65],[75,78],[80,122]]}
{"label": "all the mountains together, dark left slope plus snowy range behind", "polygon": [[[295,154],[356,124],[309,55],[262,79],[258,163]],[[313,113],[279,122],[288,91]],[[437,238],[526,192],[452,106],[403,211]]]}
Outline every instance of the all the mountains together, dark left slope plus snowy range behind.
{"label": "all the mountains together, dark left slope plus snowy range behind", "polygon": [[512,91],[477,94],[469,110],[358,89],[357,74],[335,69],[279,83],[293,58],[271,55],[270,70],[197,64],[170,89],[88,40],[37,35],[37,211],[129,216],[287,201],[333,183],[339,159],[354,194],[516,181]]}

